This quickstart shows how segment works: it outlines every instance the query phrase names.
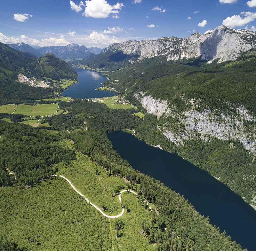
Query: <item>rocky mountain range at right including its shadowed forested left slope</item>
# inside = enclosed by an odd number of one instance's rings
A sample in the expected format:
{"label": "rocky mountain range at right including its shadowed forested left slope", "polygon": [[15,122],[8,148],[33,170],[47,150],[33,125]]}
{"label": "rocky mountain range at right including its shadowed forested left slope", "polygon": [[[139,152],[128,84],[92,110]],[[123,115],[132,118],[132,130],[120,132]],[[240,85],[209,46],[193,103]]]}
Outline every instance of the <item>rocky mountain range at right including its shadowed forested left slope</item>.
{"label": "rocky mountain range at right including its shadowed forested left slope", "polygon": [[171,36],[111,44],[94,58],[85,58],[81,64],[109,70],[114,67],[112,70],[116,70],[151,58],[223,62],[235,60],[243,52],[254,48],[255,44],[256,32],[221,25],[206,34],[194,33],[184,39]]}

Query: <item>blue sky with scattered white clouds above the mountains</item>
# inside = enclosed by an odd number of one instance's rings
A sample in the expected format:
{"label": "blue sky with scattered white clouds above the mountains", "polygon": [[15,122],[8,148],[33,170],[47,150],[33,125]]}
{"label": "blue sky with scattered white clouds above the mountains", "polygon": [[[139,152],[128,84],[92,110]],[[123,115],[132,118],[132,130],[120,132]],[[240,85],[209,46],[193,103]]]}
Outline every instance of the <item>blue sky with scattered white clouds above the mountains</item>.
{"label": "blue sky with scattered white clouds above the mountains", "polygon": [[0,0],[0,42],[104,48],[185,38],[220,25],[256,31],[256,0]]}

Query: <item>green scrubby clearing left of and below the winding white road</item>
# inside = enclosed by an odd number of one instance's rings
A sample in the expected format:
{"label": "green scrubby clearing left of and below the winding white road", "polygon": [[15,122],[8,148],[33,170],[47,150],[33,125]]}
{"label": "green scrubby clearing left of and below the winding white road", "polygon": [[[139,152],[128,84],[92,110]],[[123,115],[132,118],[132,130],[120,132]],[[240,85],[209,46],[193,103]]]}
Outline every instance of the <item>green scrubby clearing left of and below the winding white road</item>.
{"label": "green scrubby clearing left of and below the winding white road", "polygon": [[59,177],[28,189],[1,187],[0,198],[0,237],[20,248],[111,249],[108,220]]}

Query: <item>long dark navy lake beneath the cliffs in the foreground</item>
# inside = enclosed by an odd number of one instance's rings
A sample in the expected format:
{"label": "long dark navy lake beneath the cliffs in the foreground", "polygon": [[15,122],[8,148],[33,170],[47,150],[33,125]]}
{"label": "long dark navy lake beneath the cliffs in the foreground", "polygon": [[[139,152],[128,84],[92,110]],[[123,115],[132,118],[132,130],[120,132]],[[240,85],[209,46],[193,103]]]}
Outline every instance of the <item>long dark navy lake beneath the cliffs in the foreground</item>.
{"label": "long dark navy lake beneath the cliffs in the foreground", "polygon": [[226,185],[177,154],[147,145],[126,132],[110,132],[114,149],[134,169],[184,195],[210,223],[243,248],[256,250],[256,210]]}

